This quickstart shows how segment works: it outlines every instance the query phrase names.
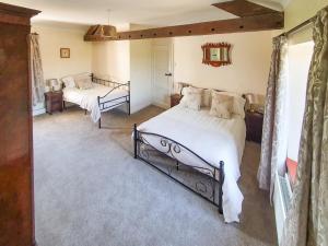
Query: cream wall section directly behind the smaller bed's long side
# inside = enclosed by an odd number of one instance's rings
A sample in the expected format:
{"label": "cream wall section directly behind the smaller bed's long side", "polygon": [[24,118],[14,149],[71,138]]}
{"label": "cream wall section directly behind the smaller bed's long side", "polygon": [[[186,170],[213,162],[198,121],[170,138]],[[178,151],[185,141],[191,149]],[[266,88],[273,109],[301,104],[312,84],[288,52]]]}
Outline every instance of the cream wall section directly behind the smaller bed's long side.
{"label": "cream wall section directly behind the smaller bed's long side", "polygon": [[95,42],[92,47],[92,71],[102,79],[130,80],[130,42]]}

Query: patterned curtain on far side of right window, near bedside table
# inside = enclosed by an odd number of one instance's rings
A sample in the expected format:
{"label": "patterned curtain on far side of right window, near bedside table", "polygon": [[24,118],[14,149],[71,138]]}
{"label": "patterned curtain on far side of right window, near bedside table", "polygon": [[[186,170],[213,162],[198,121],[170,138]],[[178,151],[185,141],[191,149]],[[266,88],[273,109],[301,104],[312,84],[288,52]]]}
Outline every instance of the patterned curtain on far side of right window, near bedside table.
{"label": "patterned curtain on far side of right window, near bedside table", "polygon": [[273,38],[273,51],[268,81],[263,117],[260,165],[257,174],[259,187],[273,192],[276,172],[285,171],[286,134],[285,101],[288,91],[288,40]]}

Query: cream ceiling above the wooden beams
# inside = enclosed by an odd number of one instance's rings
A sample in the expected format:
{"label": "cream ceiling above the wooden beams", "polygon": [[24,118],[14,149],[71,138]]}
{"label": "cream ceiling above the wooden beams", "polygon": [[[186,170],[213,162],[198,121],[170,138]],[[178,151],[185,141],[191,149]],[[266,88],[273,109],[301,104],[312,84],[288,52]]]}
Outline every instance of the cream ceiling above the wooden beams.
{"label": "cream ceiling above the wooden beams", "polygon": [[[127,30],[130,23],[166,26],[235,17],[211,7],[225,0],[2,0],[10,4],[43,11],[33,22],[75,23],[80,25],[110,24]],[[283,10],[290,0],[251,0]]]}

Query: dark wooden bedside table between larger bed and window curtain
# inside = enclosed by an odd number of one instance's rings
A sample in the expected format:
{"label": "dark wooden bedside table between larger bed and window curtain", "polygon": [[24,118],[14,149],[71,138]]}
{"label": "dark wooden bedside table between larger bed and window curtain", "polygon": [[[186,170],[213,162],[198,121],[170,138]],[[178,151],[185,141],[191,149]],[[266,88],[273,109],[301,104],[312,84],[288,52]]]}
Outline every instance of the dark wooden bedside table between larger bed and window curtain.
{"label": "dark wooden bedside table between larger bed and window curtain", "polygon": [[256,112],[246,112],[246,140],[261,143],[263,114]]}

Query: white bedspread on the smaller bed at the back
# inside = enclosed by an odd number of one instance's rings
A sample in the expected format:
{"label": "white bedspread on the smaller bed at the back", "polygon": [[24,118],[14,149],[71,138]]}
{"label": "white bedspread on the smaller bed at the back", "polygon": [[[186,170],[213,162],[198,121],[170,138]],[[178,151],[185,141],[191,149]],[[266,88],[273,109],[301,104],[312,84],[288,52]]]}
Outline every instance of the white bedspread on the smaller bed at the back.
{"label": "white bedspread on the smaller bed at the back", "polygon": [[[101,109],[97,102],[97,96],[106,95],[113,87],[105,86],[102,84],[93,83],[92,89],[80,90],[77,87],[66,87],[63,89],[63,101],[78,104],[81,108],[91,112],[91,118],[96,122],[101,118]],[[128,91],[124,89],[115,89],[110,92],[102,102],[118,98],[128,95]],[[124,103],[126,98],[120,98],[112,103],[107,103],[106,107]],[[109,110],[109,109],[107,109]],[[106,112],[102,110],[102,112]]]}

